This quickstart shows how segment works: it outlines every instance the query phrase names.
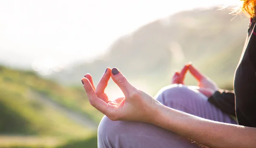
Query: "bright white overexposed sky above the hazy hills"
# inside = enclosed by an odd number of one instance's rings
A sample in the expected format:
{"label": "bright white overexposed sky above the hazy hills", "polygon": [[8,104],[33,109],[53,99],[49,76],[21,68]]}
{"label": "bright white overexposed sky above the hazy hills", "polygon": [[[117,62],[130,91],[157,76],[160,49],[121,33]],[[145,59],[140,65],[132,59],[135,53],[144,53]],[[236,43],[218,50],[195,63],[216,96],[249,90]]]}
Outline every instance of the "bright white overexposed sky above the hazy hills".
{"label": "bright white overexposed sky above the hazy hills", "polygon": [[119,36],[175,12],[240,0],[0,0],[0,64],[55,69],[103,54]]}

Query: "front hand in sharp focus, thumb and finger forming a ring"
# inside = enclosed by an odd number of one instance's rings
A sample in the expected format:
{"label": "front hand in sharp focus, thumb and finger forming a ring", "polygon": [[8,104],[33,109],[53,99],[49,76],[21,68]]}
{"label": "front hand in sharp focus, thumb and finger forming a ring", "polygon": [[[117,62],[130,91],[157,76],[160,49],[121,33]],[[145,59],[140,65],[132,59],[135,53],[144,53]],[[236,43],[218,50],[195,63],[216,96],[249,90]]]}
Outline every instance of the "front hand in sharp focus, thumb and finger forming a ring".
{"label": "front hand in sharp focus, thumb and finger forming a ring", "polygon": [[[130,120],[151,123],[157,116],[157,106],[162,104],[147,93],[132,86],[116,68],[107,68],[95,88],[90,74],[82,78],[90,104],[111,120]],[[125,97],[111,100],[105,94],[110,77],[122,90]]]}

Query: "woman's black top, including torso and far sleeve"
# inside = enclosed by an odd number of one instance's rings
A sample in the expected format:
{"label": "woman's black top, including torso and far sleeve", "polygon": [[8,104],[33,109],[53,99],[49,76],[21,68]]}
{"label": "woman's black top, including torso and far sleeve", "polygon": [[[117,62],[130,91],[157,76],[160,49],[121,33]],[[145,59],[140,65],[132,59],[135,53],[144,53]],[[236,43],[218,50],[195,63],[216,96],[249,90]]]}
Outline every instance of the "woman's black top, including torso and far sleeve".
{"label": "woman's black top, including torso and far sleeve", "polygon": [[[256,127],[256,18],[250,19],[247,39],[235,73],[234,92],[217,91],[208,101],[236,115],[239,125]],[[236,99],[235,99],[236,96]]]}

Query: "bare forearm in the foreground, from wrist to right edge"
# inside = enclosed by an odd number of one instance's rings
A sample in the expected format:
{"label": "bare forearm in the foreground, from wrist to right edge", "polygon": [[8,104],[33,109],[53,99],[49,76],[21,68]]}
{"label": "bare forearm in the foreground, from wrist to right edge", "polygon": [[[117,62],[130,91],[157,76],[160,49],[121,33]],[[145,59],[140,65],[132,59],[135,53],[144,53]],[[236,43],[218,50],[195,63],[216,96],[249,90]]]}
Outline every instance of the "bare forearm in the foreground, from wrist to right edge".
{"label": "bare forearm in the foreground, from wrist to right edge", "polygon": [[158,105],[152,124],[188,137],[210,148],[253,148],[256,128],[215,122]]}

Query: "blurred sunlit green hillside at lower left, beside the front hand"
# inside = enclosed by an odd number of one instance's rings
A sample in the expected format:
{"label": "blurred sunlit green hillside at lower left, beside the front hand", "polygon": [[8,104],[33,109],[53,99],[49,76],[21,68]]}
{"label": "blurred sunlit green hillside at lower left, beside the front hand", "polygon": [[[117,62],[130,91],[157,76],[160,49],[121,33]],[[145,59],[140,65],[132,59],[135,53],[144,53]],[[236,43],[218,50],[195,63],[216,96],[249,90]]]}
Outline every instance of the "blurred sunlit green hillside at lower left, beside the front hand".
{"label": "blurred sunlit green hillside at lower left, beside the front hand", "polygon": [[29,139],[56,144],[91,137],[101,118],[83,89],[0,66],[0,147]]}

